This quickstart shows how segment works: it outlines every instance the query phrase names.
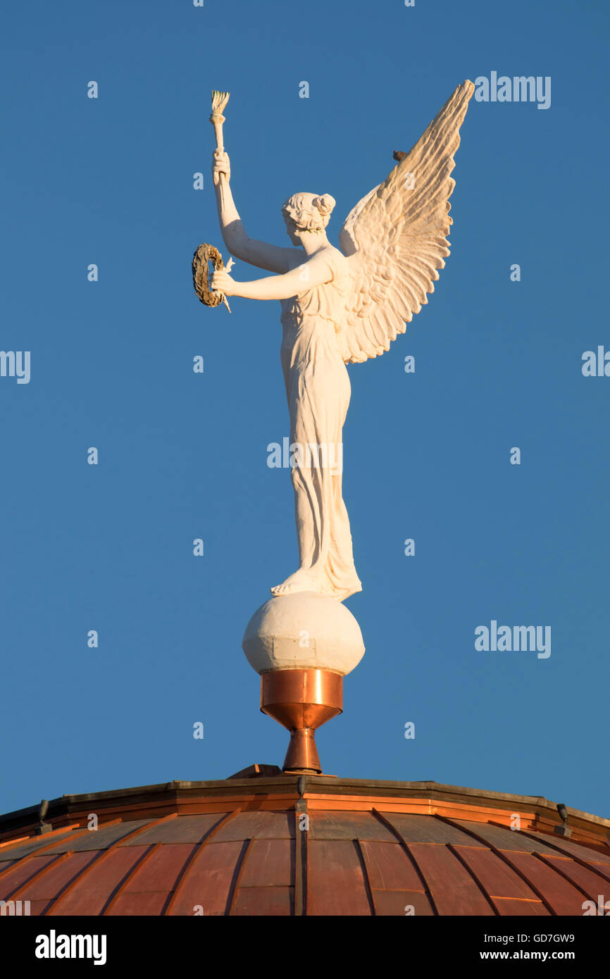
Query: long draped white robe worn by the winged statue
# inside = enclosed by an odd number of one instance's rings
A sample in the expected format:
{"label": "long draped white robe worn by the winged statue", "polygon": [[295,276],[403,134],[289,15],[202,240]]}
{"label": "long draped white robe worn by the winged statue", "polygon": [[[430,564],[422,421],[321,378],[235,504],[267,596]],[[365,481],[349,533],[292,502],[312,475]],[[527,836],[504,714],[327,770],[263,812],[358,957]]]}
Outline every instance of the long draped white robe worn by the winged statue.
{"label": "long draped white robe worn by the winged statue", "polygon": [[318,590],[343,601],[362,589],[342,495],[342,430],[352,388],[338,331],[344,326],[350,278],[337,249],[327,250],[324,260],[330,282],[282,301],[281,359],[301,568],[315,566]]}

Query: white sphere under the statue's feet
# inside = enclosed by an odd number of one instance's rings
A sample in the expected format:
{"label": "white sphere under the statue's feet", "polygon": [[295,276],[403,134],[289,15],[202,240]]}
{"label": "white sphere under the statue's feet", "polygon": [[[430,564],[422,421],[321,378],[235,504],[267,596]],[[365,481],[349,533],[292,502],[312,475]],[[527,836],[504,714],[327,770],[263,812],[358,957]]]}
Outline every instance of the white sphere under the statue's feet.
{"label": "white sphere under the statue's feet", "polygon": [[364,655],[350,609],[313,591],[270,598],[248,623],[242,646],[258,674],[317,669],[345,676]]}

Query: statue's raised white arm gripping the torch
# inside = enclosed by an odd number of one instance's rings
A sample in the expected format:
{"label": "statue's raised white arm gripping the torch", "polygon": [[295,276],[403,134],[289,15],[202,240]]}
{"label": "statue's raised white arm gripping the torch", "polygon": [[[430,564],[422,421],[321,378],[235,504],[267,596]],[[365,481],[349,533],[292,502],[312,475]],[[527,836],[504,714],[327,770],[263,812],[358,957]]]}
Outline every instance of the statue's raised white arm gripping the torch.
{"label": "statue's raised white arm gripping the torch", "polygon": [[302,255],[301,250],[280,248],[278,245],[268,245],[248,237],[231,194],[231,163],[224,151],[214,150],[211,172],[220,231],[231,255],[269,272],[287,272],[295,264],[295,254]]}

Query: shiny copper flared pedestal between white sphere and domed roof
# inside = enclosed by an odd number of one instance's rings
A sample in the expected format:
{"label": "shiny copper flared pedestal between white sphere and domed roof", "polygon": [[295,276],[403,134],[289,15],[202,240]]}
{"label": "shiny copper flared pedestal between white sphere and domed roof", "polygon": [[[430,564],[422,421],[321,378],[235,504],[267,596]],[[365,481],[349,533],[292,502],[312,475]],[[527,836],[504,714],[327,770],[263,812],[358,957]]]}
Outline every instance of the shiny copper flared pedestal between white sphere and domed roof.
{"label": "shiny copper flared pedestal between white sphere and domed roof", "polygon": [[290,731],[284,771],[319,774],[315,729],[343,711],[343,676],[330,670],[271,670],[260,677],[260,710]]}

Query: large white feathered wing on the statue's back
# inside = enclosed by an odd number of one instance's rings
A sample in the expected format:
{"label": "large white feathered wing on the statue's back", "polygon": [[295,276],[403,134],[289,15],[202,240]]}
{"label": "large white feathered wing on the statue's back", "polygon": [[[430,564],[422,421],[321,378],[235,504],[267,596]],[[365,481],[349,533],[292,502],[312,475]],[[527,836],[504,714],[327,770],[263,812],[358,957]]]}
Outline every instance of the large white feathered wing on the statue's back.
{"label": "large white feathered wing on the statue's back", "polygon": [[455,186],[449,174],[474,87],[468,80],[457,86],[410,153],[356,204],[339,233],[352,282],[339,338],[346,363],[389,350],[434,292],[437,269],[449,254],[448,199]]}

